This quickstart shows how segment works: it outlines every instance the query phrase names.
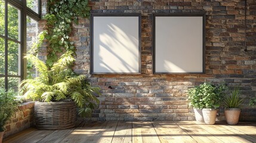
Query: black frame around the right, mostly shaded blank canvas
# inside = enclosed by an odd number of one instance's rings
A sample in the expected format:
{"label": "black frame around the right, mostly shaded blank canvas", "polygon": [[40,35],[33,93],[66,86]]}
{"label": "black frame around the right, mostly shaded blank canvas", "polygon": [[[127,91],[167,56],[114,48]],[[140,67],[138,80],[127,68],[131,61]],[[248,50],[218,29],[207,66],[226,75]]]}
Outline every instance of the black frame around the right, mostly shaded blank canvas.
{"label": "black frame around the right, mostly shaded blank canvas", "polygon": [[[205,73],[205,13],[153,13],[152,18],[152,33],[153,33],[153,74],[204,74]],[[202,70],[201,71],[183,71],[183,72],[172,72],[172,71],[159,71],[156,69],[156,17],[202,17]],[[170,25],[168,25],[170,26]],[[178,34],[178,33],[177,33]],[[183,41],[184,42],[184,41]],[[163,55],[161,55],[163,56]]]}

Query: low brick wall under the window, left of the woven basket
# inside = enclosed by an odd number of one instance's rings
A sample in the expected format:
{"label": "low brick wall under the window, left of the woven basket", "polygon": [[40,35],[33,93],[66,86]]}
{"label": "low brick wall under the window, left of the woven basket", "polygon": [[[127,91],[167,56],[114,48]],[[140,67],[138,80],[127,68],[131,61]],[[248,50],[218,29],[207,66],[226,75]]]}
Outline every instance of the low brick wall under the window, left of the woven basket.
{"label": "low brick wall under the window, left of the woven basket", "polygon": [[35,102],[24,102],[18,111],[5,125],[4,137],[13,135],[33,125],[33,110]]}

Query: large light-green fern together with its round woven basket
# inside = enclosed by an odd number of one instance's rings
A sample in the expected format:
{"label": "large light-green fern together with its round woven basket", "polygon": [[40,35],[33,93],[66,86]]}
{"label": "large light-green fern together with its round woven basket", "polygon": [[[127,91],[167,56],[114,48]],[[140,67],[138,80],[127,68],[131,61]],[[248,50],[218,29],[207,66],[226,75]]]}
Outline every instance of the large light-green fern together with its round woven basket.
{"label": "large light-green fern together with its round woven basket", "polygon": [[35,102],[35,122],[39,129],[67,129],[75,126],[76,106],[79,115],[90,116],[97,107],[100,95],[98,87],[92,87],[85,76],[73,73],[75,58],[67,51],[52,67],[33,54],[25,58],[32,62],[39,76],[21,82],[20,91],[27,99]]}

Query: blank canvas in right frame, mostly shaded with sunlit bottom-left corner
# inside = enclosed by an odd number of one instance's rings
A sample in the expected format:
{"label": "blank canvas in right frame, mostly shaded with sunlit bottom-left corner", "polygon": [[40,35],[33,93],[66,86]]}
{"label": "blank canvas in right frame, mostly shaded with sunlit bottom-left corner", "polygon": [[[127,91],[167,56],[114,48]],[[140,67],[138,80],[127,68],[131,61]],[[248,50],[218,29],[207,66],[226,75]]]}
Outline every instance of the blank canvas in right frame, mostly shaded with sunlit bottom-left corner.
{"label": "blank canvas in right frame, mostly shaded with sunlit bottom-left corner", "polygon": [[203,17],[155,17],[155,73],[203,72]]}

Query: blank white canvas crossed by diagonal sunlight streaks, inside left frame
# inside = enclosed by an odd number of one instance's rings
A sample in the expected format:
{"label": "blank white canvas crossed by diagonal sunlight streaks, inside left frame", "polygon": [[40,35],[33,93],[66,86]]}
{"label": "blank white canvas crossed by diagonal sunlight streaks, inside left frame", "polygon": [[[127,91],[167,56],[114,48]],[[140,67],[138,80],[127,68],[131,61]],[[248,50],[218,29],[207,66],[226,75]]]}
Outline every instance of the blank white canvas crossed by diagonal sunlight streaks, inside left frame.
{"label": "blank white canvas crossed by diagonal sunlight streaks, inside left frame", "polygon": [[139,73],[139,17],[93,17],[93,73]]}

